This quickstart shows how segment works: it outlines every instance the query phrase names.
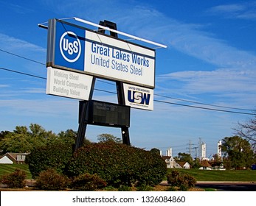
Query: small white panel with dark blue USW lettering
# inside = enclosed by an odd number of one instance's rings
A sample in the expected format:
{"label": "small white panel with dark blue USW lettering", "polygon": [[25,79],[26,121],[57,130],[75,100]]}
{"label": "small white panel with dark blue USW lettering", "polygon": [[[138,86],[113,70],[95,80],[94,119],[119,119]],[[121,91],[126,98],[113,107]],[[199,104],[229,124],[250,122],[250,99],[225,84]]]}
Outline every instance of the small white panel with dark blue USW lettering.
{"label": "small white panel with dark blue USW lettering", "polygon": [[123,84],[125,105],[142,110],[153,110],[153,89]]}

